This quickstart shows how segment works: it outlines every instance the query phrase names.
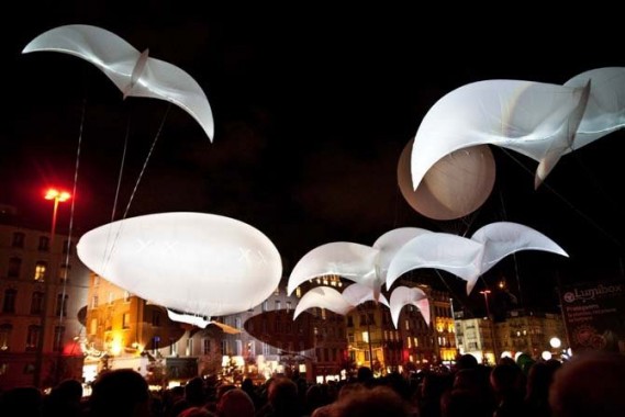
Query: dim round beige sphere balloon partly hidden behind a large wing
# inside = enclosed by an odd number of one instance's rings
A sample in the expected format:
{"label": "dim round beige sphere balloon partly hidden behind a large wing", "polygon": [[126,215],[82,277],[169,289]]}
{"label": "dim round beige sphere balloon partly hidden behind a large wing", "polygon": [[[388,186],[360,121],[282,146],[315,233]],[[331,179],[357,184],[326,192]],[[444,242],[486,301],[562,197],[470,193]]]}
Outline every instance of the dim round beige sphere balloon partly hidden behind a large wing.
{"label": "dim round beige sphere balloon partly hidden behind a large wing", "polygon": [[413,190],[410,158],[414,139],[401,153],[398,162],[398,183],[405,201],[426,217],[449,221],[478,210],[494,185],[495,164],[488,145],[455,150],[427,170]]}

